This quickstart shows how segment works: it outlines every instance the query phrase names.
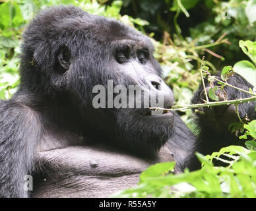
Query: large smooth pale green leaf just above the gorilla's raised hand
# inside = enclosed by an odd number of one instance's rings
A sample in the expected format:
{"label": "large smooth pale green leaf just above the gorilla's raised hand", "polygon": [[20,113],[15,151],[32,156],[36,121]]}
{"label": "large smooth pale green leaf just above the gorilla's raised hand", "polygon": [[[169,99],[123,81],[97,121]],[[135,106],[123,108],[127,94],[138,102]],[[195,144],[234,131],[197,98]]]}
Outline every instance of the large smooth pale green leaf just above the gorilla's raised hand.
{"label": "large smooth pale green leaf just above the gorilla's raised hand", "polygon": [[256,87],[256,68],[253,63],[243,60],[234,65],[234,72],[241,75],[251,85]]}

